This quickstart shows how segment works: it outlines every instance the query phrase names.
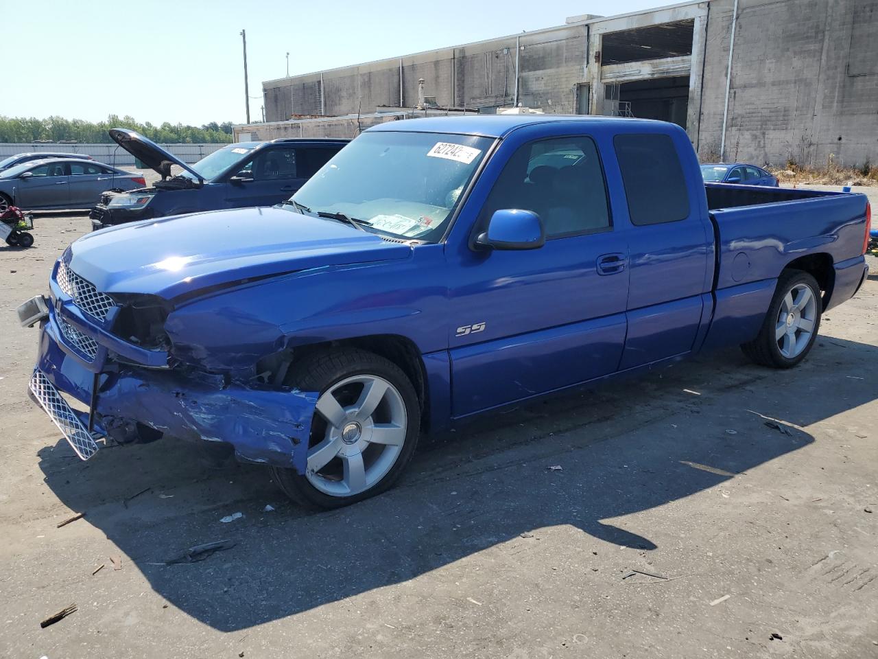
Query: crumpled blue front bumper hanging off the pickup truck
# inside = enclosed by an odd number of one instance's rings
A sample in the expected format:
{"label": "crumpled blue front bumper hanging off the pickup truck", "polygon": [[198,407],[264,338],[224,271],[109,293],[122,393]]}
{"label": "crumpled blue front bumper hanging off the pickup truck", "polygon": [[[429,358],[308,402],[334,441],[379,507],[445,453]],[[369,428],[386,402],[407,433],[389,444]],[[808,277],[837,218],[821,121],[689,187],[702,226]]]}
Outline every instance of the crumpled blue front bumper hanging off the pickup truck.
{"label": "crumpled blue front bumper hanging off the pickup truck", "polygon": [[[105,341],[97,331],[90,337]],[[131,366],[114,360],[103,344],[95,361],[83,361],[51,307],[40,323],[31,393],[83,460],[97,451],[96,439],[128,443],[136,440],[141,424],[169,438],[223,442],[238,460],[291,467],[299,474],[306,471],[317,402],[316,392],[227,381],[182,368]],[[63,395],[88,411],[73,409]]]}

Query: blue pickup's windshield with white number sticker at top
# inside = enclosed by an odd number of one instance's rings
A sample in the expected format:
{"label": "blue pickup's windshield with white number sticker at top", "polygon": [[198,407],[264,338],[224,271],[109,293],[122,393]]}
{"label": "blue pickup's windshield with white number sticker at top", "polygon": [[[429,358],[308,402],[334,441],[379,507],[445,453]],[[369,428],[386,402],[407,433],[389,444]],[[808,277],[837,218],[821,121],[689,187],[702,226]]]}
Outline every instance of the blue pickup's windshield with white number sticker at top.
{"label": "blue pickup's windshield with white number sticker at top", "polygon": [[364,133],[292,200],[313,213],[363,221],[367,230],[436,242],[492,143],[472,135]]}

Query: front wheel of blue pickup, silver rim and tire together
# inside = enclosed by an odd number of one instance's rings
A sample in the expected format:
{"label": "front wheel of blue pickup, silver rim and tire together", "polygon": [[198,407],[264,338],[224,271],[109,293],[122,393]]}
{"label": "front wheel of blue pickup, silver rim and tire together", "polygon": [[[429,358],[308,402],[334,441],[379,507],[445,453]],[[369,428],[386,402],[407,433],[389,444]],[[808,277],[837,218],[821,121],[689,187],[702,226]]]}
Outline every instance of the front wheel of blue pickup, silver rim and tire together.
{"label": "front wheel of blue pickup, silver rim and tire together", "polygon": [[287,384],[320,392],[306,474],[272,467],[287,496],[309,507],[339,508],[391,487],[421,427],[418,397],[399,366],[357,349],[323,352],[294,364]]}

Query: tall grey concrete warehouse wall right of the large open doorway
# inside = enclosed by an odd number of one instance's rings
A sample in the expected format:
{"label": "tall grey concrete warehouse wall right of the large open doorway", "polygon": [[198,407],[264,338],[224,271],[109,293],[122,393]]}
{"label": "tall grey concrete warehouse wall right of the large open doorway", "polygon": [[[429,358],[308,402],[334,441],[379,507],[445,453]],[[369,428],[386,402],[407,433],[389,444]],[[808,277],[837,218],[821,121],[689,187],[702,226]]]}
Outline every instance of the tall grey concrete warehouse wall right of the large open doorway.
{"label": "tall grey concrete warehouse wall right of the large open doorway", "polygon": [[[722,142],[733,0],[710,3],[704,159]],[[878,162],[878,0],[739,0],[725,159]]]}

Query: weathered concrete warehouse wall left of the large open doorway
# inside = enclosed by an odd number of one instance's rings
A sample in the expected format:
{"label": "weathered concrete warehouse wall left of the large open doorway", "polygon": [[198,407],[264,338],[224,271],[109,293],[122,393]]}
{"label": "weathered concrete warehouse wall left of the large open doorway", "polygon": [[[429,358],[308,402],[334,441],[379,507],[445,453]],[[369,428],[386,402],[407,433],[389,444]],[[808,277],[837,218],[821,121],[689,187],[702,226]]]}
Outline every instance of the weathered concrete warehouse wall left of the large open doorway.
{"label": "weathered concrete warehouse wall left of the large open doorway", "polygon": [[[519,38],[519,100],[545,112],[574,112],[575,84],[584,80],[586,25],[563,25]],[[292,113],[343,115],[379,105],[415,105],[418,79],[443,106],[493,109],[515,100],[516,37],[406,55],[263,83],[265,119]],[[399,63],[402,63],[400,103]],[[322,81],[322,82],[321,82]],[[323,91],[323,105],[320,93]]]}

